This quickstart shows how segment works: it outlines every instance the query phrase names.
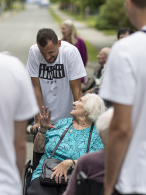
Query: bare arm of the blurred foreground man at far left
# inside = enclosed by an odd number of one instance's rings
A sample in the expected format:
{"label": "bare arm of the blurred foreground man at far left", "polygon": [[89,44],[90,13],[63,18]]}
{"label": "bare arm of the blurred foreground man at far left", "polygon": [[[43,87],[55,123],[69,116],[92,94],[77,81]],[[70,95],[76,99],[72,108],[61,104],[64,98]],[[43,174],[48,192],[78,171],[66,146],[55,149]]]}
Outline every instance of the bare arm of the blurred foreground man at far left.
{"label": "bare arm of the blurred foreground man at far left", "polygon": [[15,140],[16,163],[22,178],[26,160],[26,126],[27,121],[15,121]]}

